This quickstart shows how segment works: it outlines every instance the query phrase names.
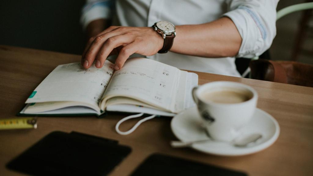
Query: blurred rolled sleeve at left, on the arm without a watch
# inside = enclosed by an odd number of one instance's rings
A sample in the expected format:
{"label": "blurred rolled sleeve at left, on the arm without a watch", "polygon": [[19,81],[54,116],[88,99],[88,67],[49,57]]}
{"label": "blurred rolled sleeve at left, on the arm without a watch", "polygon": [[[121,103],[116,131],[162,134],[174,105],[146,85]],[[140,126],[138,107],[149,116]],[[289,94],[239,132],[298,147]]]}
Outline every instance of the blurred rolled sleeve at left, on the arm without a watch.
{"label": "blurred rolled sleeve at left, on the arm without a watch", "polygon": [[88,24],[96,19],[110,19],[114,3],[114,0],[87,0],[80,17],[83,29],[85,30]]}

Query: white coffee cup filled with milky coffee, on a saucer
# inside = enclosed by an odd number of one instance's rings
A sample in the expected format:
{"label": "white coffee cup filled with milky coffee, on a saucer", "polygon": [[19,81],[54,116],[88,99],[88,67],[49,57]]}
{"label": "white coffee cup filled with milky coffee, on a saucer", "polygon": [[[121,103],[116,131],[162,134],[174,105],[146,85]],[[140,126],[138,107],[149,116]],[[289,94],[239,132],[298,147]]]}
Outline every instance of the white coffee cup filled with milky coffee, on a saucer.
{"label": "white coffee cup filled with milky coffee, on a saucer", "polygon": [[248,85],[214,81],[193,88],[203,127],[216,140],[232,141],[252,118],[258,94]]}

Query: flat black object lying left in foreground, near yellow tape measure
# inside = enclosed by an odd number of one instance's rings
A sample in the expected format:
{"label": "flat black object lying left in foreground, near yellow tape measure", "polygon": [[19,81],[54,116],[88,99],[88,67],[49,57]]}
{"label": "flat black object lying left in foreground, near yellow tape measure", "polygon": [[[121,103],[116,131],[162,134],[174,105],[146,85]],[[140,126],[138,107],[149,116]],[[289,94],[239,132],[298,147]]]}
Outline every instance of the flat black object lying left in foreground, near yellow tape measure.
{"label": "flat black object lying left in foreground, near yellow tape measure", "polygon": [[7,164],[31,175],[107,175],[131,148],[78,132],[51,132]]}

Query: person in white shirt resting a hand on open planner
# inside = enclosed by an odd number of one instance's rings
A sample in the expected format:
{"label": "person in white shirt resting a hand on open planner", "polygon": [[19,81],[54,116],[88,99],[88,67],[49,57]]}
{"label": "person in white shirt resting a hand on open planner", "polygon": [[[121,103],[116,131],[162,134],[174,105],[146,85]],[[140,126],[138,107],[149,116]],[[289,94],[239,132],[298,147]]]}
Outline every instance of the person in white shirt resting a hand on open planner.
{"label": "person in white shirt resting a hand on open planner", "polygon": [[[141,54],[179,69],[240,76],[235,57],[267,50],[276,35],[278,0],[87,0],[81,22],[90,37],[82,65],[100,68],[117,55],[115,70]],[[106,28],[111,21],[112,26]],[[166,54],[153,26],[166,21],[176,36]],[[134,55],[135,54],[135,55]]]}

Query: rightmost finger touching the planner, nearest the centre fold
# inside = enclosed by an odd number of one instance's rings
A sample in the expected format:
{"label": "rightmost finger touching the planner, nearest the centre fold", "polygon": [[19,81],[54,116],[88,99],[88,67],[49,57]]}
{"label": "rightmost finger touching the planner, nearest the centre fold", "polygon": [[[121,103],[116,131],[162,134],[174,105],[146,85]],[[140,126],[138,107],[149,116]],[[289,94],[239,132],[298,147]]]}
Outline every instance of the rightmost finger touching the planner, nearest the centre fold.
{"label": "rightmost finger touching the planner, nearest the centre fold", "polygon": [[120,70],[123,65],[125,64],[125,61],[129,58],[131,54],[136,53],[138,50],[138,43],[132,42],[126,46],[124,46],[121,50],[120,53],[118,54],[116,60],[115,60],[115,70]]}

